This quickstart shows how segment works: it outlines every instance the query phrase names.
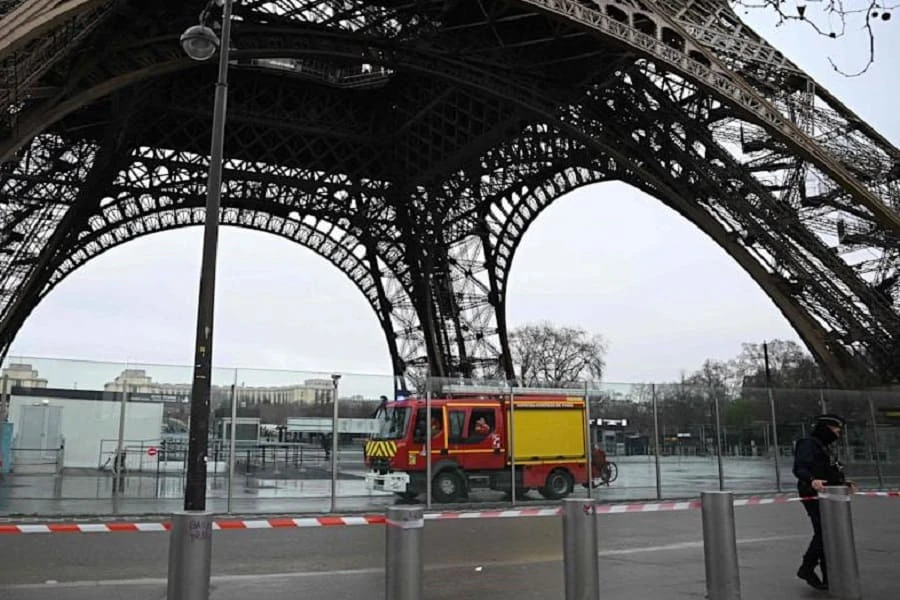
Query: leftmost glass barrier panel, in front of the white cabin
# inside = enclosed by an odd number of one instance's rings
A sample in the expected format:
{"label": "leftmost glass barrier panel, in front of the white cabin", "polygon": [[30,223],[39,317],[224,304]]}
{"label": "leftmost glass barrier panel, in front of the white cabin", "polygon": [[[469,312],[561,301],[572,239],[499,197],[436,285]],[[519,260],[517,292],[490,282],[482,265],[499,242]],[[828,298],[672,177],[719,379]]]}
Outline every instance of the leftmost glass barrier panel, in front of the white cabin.
{"label": "leftmost glass barrier panel, in front of the white cabin", "polygon": [[2,385],[12,442],[0,512],[110,510],[101,440],[118,437],[120,395],[110,386],[125,369],[124,363],[6,358]]}

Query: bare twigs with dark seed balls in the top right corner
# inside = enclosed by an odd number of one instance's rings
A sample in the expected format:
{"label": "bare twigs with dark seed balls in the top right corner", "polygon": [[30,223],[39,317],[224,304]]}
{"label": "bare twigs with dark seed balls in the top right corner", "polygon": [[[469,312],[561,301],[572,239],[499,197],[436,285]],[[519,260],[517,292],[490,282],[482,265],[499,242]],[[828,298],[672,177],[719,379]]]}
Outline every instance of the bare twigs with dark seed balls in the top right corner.
{"label": "bare twigs with dark seed balls in the top right corner", "polygon": [[832,39],[844,37],[848,30],[856,26],[864,29],[868,36],[869,57],[862,69],[848,73],[828,58],[831,68],[847,77],[857,77],[869,70],[875,62],[873,24],[890,21],[893,11],[900,7],[900,4],[885,0],[734,0],[734,5],[745,9],[772,10],[778,15],[778,25],[801,22],[819,35]]}

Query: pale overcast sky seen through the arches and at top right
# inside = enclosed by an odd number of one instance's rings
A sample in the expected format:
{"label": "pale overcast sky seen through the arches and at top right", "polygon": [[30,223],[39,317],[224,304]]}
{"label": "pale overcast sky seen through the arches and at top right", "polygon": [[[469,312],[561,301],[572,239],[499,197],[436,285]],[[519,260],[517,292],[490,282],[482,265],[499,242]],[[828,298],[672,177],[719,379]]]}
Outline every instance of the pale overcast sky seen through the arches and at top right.
{"label": "pale overcast sky seen through the arches and at top right", "polygon": [[[900,15],[875,23],[879,61],[864,62],[867,40],[828,40],[799,25],[748,21],[818,81],[900,141],[897,60]],[[155,380],[190,381],[202,230],[156,234],[82,267],[37,307],[11,358],[72,357],[185,365],[151,369]],[[356,288],[309,250],[263,233],[225,228],[220,237],[214,362],[293,371],[389,374],[378,322]],[[618,183],[573,192],[525,235],[512,268],[510,325],[548,320],[582,326],[609,341],[606,381],[670,381],[706,358],[727,359],[742,342],[797,340],[765,294],[693,225]],[[32,361],[34,362],[34,361]],[[102,385],[120,365],[40,361],[51,385]],[[233,372],[217,379],[231,383]],[[247,385],[297,380],[241,370]],[[361,379],[345,378],[351,388]],[[389,379],[368,379],[364,387]],[[354,383],[355,382],[355,383]]]}

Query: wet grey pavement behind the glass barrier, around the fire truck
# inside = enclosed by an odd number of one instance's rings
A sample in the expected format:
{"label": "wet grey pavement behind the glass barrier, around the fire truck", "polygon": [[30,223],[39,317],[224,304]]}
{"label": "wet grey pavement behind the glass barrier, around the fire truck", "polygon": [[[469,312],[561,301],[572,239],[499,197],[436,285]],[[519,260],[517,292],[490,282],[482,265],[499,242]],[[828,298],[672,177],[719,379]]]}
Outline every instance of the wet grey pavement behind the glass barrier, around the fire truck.
{"label": "wet grey pavement behind the glass barrier, around the fire truck", "polygon": [[[399,499],[390,493],[369,492],[363,482],[364,467],[359,452],[341,452],[336,509],[341,512],[383,510]],[[656,463],[652,456],[611,457],[618,466],[618,478],[598,488],[594,497],[611,502],[657,499]],[[782,491],[793,492],[791,462],[780,464]],[[777,491],[772,459],[723,459],[724,489],[742,494],[769,494]],[[876,488],[873,465],[851,464],[848,473],[862,487]],[[886,465],[885,487],[900,486],[900,465]],[[236,473],[231,491],[231,512],[319,513],[330,510],[331,471],[324,461],[299,466],[278,466],[261,472]],[[660,461],[662,499],[696,497],[701,491],[718,489],[715,457],[664,457]],[[129,474],[124,490],[113,493],[109,473],[93,470],[52,475],[7,475],[0,480],[0,517],[6,516],[102,516],[170,514],[181,509],[184,477],[174,473]],[[584,493],[576,487],[576,494]],[[424,499],[424,498],[420,498]],[[536,492],[518,499],[522,504],[541,503]],[[503,493],[476,491],[471,504],[508,502]],[[208,476],[207,506],[216,513],[228,510],[228,476],[211,472]]]}

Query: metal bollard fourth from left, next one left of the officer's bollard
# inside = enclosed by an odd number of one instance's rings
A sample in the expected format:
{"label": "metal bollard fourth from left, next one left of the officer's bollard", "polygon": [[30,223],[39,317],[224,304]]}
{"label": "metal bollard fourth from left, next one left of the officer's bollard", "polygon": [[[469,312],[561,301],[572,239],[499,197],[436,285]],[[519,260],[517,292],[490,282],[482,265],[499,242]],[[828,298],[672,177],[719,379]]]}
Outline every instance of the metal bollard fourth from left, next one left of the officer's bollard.
{"label": "metal bollard fourth from left, next one left of the officer's bollard", "polygon": [[741,576],[734,529],[734,494],[702,492],[703,558],[708,600],[741,600]]}

